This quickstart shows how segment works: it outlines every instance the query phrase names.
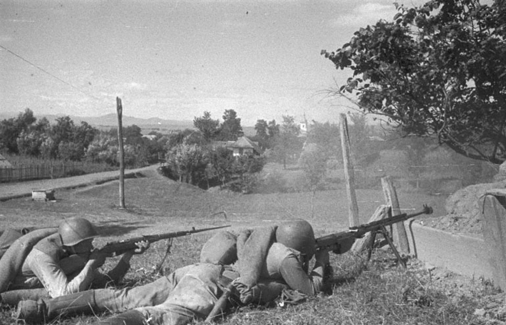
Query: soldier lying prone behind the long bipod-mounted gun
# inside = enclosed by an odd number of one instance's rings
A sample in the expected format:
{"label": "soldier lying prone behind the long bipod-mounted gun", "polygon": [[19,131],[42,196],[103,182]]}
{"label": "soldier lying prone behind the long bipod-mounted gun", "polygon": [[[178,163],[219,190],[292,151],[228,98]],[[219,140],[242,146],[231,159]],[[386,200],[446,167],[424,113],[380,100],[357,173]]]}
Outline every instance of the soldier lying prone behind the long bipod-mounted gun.
{"label": "soldier lying prone behind the long bipod-mounted gun", "polygon": [[[312,226],[305,220],[278,226],[218,231],[203,246],[200,263],[153,283],[121,290],[97,289],[43,301],[22,301],[18,319],[36,322],[72,313],[120,312],[103,325],[186,324],[207,317],[229,286],[241,303],[313,296],[322,288],[328,252],[315,252]],[[308,274],[308,262],[315,265]]]}

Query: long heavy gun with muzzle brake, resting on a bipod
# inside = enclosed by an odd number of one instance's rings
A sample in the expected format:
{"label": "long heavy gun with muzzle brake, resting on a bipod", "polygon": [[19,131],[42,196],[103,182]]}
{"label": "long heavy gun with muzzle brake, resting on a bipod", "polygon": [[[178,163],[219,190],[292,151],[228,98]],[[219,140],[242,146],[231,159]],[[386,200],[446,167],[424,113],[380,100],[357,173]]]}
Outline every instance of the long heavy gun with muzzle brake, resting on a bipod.
{"label": "long heavy gun with muzzle brake, resting on a bipod", "polygon": [[[348,231],[341,231],[340,233],[325,235],[316,239],[316,250],[328,250],[336,254],[342,254],[351,248],[351,245],[357,238],[361,238],[369,231],[377,231],[382,226],[388,226],[397,222],[401,222],[420,214],[432,214],[431,207],[424,205],[423,210],[413,214],[402,213],[396,216],[391,216],[382,220],[372,221],[359,226],[350,227]],[[347,249],[345,249],[347,248]]]}

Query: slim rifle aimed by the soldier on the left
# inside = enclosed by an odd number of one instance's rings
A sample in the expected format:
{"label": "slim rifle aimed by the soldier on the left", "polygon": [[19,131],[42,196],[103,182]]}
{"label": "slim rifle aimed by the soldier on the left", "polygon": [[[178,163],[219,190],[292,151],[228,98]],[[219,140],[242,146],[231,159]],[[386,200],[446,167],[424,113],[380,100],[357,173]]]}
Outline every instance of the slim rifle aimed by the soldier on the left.
{"label": "slim rifle aimed by the soldier on the left", "polygon": [[137,245],[135,243],[147,241],[150,244],[163,240],[163,239],[171,239],[176,237],[188,236],[195,233],[201,233],[202,231],[215,230],[220,228],[230,227],[230,225],[219,226],[219,227],[211,227],[211,228],[203,228],[203,229],[195,229],[193,227],[191,230],[182,230],[175,231],[173,233],[164,233],[158,235],[145,235],[140,237],[134,237],[126,240],[110,242],[105,244],[104,247],[98,249],[100,253],[112,254],[112,256],[120,255],[124,252],[130,251],[132,249],[136,249]]}

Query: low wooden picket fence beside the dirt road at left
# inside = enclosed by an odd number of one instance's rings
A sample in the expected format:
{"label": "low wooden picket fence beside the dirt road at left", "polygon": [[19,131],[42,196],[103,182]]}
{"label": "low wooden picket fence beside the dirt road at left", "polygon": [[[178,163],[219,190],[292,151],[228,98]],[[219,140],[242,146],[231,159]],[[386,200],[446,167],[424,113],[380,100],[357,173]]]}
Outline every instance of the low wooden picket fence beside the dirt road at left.
{"label": "low wooden picket fence beside the dirt road at left", "polygon": [[0,167],[0,182],[65,177],[82,168],[83,163],[76,161]]}

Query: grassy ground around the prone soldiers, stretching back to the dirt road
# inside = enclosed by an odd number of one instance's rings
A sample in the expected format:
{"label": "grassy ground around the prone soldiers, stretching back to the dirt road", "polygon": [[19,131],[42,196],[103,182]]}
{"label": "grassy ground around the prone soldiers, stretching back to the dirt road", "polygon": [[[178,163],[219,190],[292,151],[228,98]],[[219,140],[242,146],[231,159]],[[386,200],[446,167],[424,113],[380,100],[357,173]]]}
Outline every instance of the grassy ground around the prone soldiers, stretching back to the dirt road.
{"label": "grassy ground around the prone soldiers, stretching back to the dirt road", "polygon": [[[119,209],[118,183],[57,191],[56,202],[35,202],[29,198],[2,202],[0,224],[12,227],[50,226],[64,217],[86,217],[103,237],[97,246],[133,236],[231,225],[250,228],[275,224],[282,220],[306,218],[317,236],[344,230],[348,221],[347,196],[344,191],[317,192],[315,213],[311,216],[311,194],[239,195],[221,191],[203,191],[187,184],[167,180],[154,170],[144,177],[125,180],[126,209]],[[431,205],[435,215],[445,212],[444,198],[398,193],[406,212]],[[385,199],[381,191],[357,191],[361,222]],[[171,254],[160,273],[198,261],[202,244],[212,233],[202,233],[174,240]],[[154,267],[165,253],[165,243],[157,242],[141,257],[134,257],[124,285],[141,285],[153,281]],[[110,259],[105,268],[114,265]],[[224,324],[491,324],[502,323],[499,308],[503,296],[490,283],[456,276],[444,270],[427,268],[413,258],[408,268],[398,266],[388,250],[377,250],[371,261],[365,256],[344,254],[331,256],[334,268],[325,294],[296,305],[246,306],[219,322]],[[483,312],[477,312],[484,310]],[[0,313],[0,323],[11,323],[8,307]],[[95,316],[77,316],[56,320],[55,324],[89,324]],[[199,323],[199,322],[196,322]],[[203,323],[203,322],[200,322]]]}

